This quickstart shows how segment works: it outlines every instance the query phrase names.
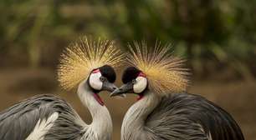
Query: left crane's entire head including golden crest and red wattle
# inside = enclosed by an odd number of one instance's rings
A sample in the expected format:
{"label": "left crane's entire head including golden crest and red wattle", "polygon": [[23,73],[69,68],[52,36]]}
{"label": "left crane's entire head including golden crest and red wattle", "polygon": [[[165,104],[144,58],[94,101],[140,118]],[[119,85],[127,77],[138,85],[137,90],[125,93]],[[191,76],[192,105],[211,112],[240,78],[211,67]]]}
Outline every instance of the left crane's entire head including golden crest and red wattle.
{"label": "left crane's entire head including golden crest and red wattle", "polygon": [[95,99],[102,105],[98,93],[115,90],[114,68],[120,67],[123,58],[123,53],[112,41],[80,37],[60,57],[57,71],[60,86],[65,90],[78,87],[79,92],[93,92]]}

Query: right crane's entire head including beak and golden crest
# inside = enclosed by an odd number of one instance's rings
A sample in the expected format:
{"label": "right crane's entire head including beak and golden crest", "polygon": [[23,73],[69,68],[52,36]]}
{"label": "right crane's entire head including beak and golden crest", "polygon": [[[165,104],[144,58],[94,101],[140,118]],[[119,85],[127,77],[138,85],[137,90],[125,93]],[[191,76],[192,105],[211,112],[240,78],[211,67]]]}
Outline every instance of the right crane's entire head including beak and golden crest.
{"label": "right crane's entire head including beak and golden crest", "polygon": [[115,89],[110,96],[121,93],[136,93],[140,97],[146,91],[164,96],[173,92],[184,92],[187,89],[188,72],[183,68],[184,60],[173,57],[170,45],[149,47],[146,42],[135,42],[129,45],[127,61],[131,67],[125,69],[122,76],[124,85]]}

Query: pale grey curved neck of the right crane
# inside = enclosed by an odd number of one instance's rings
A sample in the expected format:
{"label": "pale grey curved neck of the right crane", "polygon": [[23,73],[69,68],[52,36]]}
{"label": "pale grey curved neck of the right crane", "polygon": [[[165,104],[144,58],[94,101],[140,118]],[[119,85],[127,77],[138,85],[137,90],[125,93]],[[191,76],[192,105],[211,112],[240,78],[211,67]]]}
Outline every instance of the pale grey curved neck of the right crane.
{"label": "pale grey curved neck of the right crane", "polygon": [[161,97],[158,97],[155,93],[146,91],[144,97],[129,108],[122,123],[122,140],[146,138],[146,136],[141,135],[145,134],[142,131],[145,130],[146,118],[158,105],[160,100]]}

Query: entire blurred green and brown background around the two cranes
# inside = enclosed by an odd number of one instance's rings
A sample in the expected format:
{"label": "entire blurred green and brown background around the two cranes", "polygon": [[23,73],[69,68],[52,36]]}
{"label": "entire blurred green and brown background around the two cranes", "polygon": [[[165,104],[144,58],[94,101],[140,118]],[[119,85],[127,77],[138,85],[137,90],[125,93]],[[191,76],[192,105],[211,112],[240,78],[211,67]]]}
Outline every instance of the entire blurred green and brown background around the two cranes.
{"label": "entire blurred green and brown background around the two cranes", "polygon": [[[255,0],[1,0],[0,110],[35,94],[66,99],[90,123],[75,91],[59,89],[55,68],[64,47],[87,34],[127,42],[172,42],[192,70],[189,92],[230,112],[245,139],[256,139]],[[120,74],[122,68],[118,71]],[[120,79],[117,80],[120,86]],[[134,96],[101,93],[113,139]]]}

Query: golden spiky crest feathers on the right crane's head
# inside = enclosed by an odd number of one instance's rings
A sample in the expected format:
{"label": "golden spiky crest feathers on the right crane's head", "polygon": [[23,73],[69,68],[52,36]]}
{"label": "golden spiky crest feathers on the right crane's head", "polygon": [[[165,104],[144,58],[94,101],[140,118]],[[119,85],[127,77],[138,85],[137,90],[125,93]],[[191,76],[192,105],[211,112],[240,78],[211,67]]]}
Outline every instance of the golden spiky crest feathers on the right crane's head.
{"label": "golden spiky crest feathers on the right crane's head", "polygon": [[172,56],[171,45],[156,42],[148,47],[146,42],[134,42],[129,48],[128,62],[146,74],[151,90],[159,94],[187,90],[189,72],[182,67],[185,60]]}

